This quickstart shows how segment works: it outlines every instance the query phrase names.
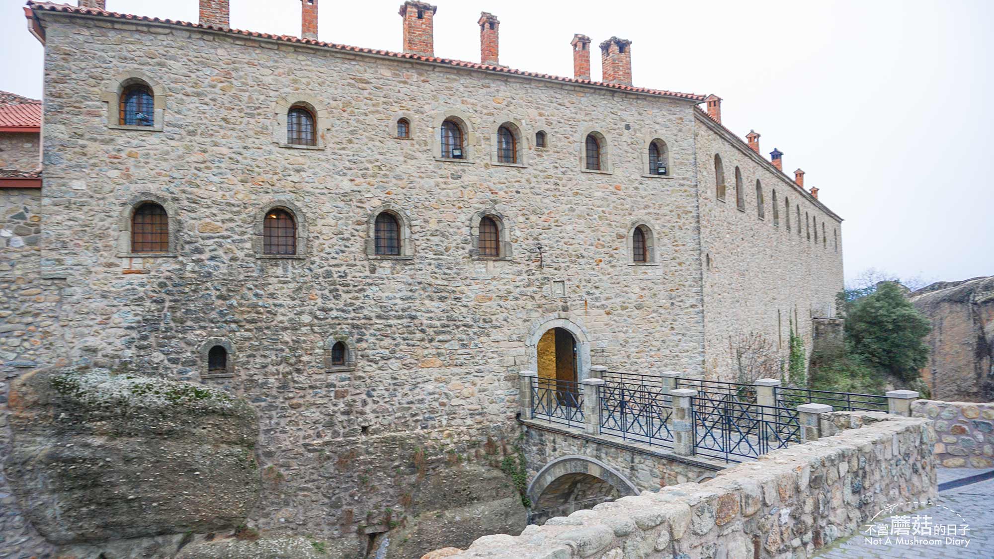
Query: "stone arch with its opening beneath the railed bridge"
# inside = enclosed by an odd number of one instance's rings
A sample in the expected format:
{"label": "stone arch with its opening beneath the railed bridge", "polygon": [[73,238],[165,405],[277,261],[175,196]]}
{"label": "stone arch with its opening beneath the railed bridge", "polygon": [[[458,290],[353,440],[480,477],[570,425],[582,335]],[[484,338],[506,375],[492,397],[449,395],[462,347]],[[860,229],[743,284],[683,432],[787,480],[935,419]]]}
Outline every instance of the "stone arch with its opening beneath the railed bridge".
{"label": "stone arch with its opening beneath the railed bridge", "polygon": [[544,523],[552,516],[638,493],[635,484],[611,466],[579,455],[562,457],[539,470],[529,484],[529,522]]}

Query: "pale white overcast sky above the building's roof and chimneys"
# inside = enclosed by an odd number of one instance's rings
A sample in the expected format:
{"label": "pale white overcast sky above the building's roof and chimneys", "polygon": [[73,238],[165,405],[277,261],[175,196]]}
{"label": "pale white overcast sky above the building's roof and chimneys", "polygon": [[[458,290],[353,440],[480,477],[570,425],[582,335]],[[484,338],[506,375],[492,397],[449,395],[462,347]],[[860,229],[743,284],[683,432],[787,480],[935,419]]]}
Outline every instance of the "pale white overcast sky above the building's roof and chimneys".
{"label": "pale white overcast sky above the building's roof and chimneys", "polygon": [[[75,4],[75,0],[70,0]],[[570,40],[632,41],[636,86],[717,93],[723,123],[845,219],[846,278],[994,275],[994,2],[438,0],[435,54],[479,61],[480,11],[501,63],[573,75]],[[0,90],[41,96],[42,47],[20,0],[0,0]],[[197,20],[197,0],[107,9]],[[322,41],[400,51],[400,0],[322,0]],[[232,0],[232,26],[300,32],[300,0]],[[593,51],[591,74],[600,76]],[[788,173],[789,174],[789,173]]]}

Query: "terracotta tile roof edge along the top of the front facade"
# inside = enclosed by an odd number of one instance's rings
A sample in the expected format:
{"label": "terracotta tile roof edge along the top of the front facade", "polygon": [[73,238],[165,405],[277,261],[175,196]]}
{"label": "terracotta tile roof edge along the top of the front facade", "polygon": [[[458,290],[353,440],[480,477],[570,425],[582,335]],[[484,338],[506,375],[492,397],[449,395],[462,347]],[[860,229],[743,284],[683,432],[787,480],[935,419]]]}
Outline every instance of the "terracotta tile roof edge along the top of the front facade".
{"label": "terracotta tile roof edge along the top of the front facade", "polygon": [[224,33],[231,33],[234,35],[243,35],[246,37],[258,38],[258,39],[268,39],[271,41],[282,41],[286,43],[299,43],[303,45],[312,45],[315,47],[324,47],[329,49],[335,49],[339,51],[349,51],[353,53],[364,53],[370,55],[378,55],[383,57],[393,57],[398,59],[409,59],[419,62],[427,62],[432,64],[441,64],[447,66],[454,66],[459,68],[470,68],[474,70],[485,70],[488,72],[496,72],[500,74],[512,74],[515,76],[523,76],[525,78],[537,78],[540,80],[555,80],[557,82],[567,82],[572,84],[580,84],[585,86],[594,86],[598,88],[608,88],[611,90],[621,90],[623,92],[631,93],[645,93],[650,95],[663,95],[668,97],[677,97],[688,100],[694,100],[701,102],[704,100],[704,95],[699,95],[696,93],[678,93],[678,92],[668,92],[665,90],[650,90],[646,88],[635,88],[633,86],[622,86],[617,84],[604,84],[601,82],[592,82],[589,80],[575,80],[573,78],[563,78],[561,76],[552,76],[550,74],[538,74],[535,72],[524,72],[521,70],[514,70],[512,68],[507,68],[503,66],[492,66],[486,64],[477,64],[472,62],[458,61],[452,59],[438,58],[438,57],[425,57],[421,55],[414,55],[411,53],[395,53],[392,51],[383,51],[378,49],[366,49],[362,47],[351,47],[349,45],[340,45],[336,43],[324,43],[322,41],[317,41],[316,39],[301,39],[299,37],[293,37],[290,35],[272,35],[269,33],[259,33],[255,31],[243,31],[241,29],[231,29],[227,27],[220,27],[215,25],[204,25],[200,23],[190,23],[185,21],[176,21],[171,19],[160,19],[148,16],[135,16],[130,14],[119,14],[117,12],[107,12],[104,10],[96,10],[93,8],[80,8],[77,6],[70,6],[68,4],[54,4],[51,2],[28,2],[28,9],[30,10],[40,10],[48,12],[63,12],[68,14],[81,14],[88,16],[101,16],[107,18],[121,19],[121,20],[131,20],[131,21],[144,21],[150,23],[161,23],[166,25],[177,25],[182,27],[193,27],[197,29],[209,29],[212,31],[220,31]]}

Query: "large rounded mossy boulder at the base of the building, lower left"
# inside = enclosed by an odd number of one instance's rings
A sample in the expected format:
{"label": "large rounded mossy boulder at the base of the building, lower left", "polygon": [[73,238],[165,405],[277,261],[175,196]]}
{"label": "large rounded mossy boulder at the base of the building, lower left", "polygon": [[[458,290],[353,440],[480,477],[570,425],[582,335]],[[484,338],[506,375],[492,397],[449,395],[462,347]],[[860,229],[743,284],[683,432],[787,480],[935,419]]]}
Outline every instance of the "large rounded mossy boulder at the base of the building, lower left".
{"label": "large rounded mossy boulder at the base of the building, lower left", "polygon": [[258,496],[258,421],[225,392],[50,369],[18,379],[9,407],[5,473],[55,544],[229,530]]}

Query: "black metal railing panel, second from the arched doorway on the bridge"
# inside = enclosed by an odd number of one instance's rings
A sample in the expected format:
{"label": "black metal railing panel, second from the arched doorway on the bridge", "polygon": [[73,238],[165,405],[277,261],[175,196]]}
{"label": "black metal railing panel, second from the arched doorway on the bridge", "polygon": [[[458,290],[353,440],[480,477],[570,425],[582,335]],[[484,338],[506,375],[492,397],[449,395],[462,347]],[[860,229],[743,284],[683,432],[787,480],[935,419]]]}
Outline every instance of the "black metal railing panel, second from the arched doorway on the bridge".
{"label": "black metal railing panel, second from the arched doorway on the bridge", "polygon": [[667,422],[673,402],[660,388],[605,380],[597,387],[600,432],[647,445],[673,447]]}

